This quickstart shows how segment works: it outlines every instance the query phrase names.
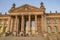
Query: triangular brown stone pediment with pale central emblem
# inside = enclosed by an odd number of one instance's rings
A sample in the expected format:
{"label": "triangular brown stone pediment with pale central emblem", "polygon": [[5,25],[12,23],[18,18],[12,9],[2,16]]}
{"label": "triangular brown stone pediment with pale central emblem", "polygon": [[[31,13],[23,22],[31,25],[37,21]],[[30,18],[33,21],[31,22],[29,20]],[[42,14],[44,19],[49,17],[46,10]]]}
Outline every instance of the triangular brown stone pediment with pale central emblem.
{"label": "triangular brown stone pediment with pale central emblem", "polygon": [[38,12],[38,11],[39,11],[39,8],[28,5],[28,4],[17,7],[14,10],[10,10],[10,12]]}

